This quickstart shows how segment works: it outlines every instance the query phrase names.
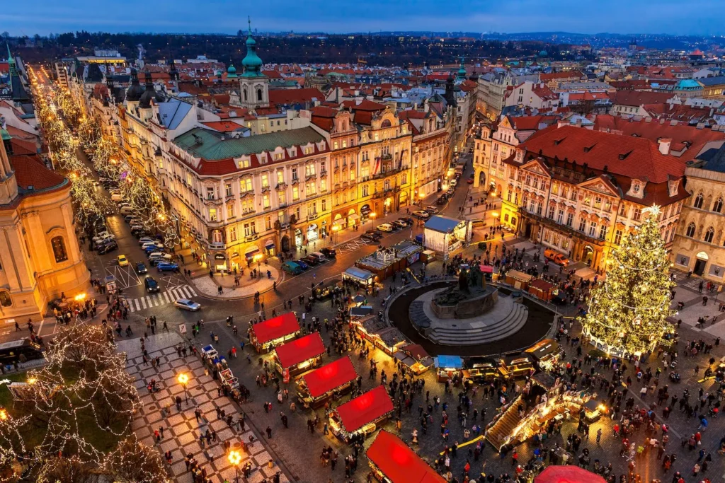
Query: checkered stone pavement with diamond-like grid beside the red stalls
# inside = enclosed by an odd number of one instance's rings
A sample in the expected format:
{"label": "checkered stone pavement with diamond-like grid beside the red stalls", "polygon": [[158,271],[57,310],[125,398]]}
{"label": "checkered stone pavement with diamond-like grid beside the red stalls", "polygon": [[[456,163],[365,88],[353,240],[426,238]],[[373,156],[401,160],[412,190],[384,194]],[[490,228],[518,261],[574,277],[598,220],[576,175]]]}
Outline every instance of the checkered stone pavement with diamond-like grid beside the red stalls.
{"label": "checkered stone pavement with diamond-like grid beside the red stalls", "polygon": [[[230,399],[218,395],[217,382],[206,373],[199,358],[193,355],[178,356],[174,346],[180,342],[183,340],[174,333],[149,337],[146,343],[149,357],[159,358],[159,365],[155,367],[143,363],[138,339],[123,340],[118,344],[118,349],[128,356],[127,371],[136,378],[135,385],[141,394],[142,406],[133,420],[133,431],[139,440],[155,446],[162,454],[171,451],[173,462],[169,468],[170,474],[179,483],[193,481],[191,472],[186,469],[184,455],[193,456],[199,463],[200,471],[204,469],[212,482],[233,481],[236,469],[229,462],[223,447],[223,442],[227,441],[233,450],[238,450],[242,455],[240,470],[247,462],[252,463],[252,474],[244,481],[262,482],[280,471],[278,466],[269,468],[268,462],[272,458],[260,442],[259,434],[248,425],[240,431],[236,425],[230,427],[218,419],[217,408],[232,414],[235,421],[238,410]],[[186,392],[177,381],[178,374],[182,372],[189,377]],[[156,379],[159,385],[158,392],[149,393],[146,389],[152,379]],[[175,406],[177,396],[182,400],[181,411]],[[170,413],[164,416],[166,407],[170,408]],[[201,411],[199,419],[194,413],[197,408]],[[163,436],[157,440],[154,432],[160,433],[161,428]],[[211,444],[199,441],[199,436],[207,430],[216,434],[216,441]],[[254,437],[254,443],[247,451],[241,450],[241,442],[249,444],[250,437]],[[281,475],[280,481],[289,482],[289,479]]]}

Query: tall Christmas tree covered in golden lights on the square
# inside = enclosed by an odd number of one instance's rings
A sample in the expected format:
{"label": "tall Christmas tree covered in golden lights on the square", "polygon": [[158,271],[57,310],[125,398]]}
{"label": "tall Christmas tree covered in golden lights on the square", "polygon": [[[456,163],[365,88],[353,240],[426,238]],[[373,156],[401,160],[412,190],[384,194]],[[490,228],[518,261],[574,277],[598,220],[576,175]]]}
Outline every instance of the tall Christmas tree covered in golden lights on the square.
{"label": "tall Christmas tree covered in golden lights on the square", "polygon": [[[658,206],[624,238],[608,262],[607,279],[592,289],[589,311],[579,320],[584,334],[608,352],[644,353],[671,324],[669,261],[660,237]],[[649,215],[649,216],[647,216]]]}

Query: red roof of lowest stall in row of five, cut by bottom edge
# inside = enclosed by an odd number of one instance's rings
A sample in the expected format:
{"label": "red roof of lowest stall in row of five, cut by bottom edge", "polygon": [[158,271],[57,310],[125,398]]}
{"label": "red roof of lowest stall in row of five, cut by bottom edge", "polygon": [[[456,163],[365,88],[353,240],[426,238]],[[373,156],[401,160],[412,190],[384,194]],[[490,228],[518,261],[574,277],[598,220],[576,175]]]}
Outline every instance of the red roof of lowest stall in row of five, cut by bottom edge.
{"label": "red roof of lowest stall in row of five, cut by bottom edge", "polygon": [[387,431],[378,433],[368,449],[368,458],[393,483],[444,483],[443,476]]}

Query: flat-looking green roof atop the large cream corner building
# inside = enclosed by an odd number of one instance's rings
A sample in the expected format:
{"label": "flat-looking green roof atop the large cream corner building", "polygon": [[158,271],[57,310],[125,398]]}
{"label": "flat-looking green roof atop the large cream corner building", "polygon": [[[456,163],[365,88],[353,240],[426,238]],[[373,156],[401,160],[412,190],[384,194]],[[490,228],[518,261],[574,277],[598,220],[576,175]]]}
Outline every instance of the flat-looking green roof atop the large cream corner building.
{"label": "flat-looking green roof atop the large cream corner building", "polygon": [[[259,134],[247,138],[231,138],[228,134],[195,127],[176,138],[174,143],[196,157],[214,161],[239,158],[262,151],[274,151],[278,147],[291,148],[307,143],[319,143],[323,139],[325,137],[312,127]],[[199,144],[199,140],[202,141],[201,144]]]}

